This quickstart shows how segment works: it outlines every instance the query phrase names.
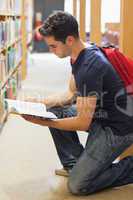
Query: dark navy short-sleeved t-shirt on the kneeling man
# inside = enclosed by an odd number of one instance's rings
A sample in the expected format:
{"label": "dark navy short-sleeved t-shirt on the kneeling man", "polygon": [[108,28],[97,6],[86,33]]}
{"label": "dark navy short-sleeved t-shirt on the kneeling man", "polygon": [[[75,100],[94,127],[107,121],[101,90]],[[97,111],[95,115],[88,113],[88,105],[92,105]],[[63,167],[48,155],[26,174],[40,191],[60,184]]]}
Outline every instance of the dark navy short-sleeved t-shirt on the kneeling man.
{"label": "dark navy short-sleeved t-shirt on the kneeling man", "polygon": [[117,135],[133,133],[133,98],[126,94],[124,83],[101,50],[83,49],[72,64],[78,96],[97,96],[93,120],[109,126]]}

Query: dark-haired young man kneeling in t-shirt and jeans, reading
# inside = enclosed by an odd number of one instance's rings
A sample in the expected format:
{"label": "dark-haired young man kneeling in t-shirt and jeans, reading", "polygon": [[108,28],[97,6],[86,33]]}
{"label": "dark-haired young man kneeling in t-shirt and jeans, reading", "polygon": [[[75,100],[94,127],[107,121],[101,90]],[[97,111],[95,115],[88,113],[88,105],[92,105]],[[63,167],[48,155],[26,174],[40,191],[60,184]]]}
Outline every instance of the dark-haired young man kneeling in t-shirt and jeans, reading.
{"label": "dark-haired young man kneeling in t-shirt and jeans, reading", "polygon": [[[133,100],[123,81],[97,46],[83,43],[72,15],[53,13],[39,32],[52,53],[70,56],[72,75],[66,94],[44,100],[58,119],[23,117],[49,127],[73,194],[133,183],[133,157],[113,163],[133,143]],[[85,148],[77,130],[89,132]]]}

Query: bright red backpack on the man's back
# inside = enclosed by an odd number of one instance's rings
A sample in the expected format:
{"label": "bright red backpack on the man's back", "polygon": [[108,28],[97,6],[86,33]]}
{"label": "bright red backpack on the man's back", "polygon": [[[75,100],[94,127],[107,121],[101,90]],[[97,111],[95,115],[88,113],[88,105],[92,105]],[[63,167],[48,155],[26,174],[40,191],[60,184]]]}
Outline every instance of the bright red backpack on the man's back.
{"label": "bright red backpack on the man's back", "polygon": [[116,48],[100,47],[100,49],[123,80],[127,93],[133,95],[133,60]]}

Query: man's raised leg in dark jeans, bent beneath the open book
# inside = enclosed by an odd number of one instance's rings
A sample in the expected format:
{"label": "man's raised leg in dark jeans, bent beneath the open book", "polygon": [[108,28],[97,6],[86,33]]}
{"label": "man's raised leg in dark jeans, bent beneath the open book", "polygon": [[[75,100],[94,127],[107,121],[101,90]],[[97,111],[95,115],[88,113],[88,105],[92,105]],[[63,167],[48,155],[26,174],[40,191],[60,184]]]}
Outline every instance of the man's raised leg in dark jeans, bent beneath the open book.
{"label": "man's raised leg in dark jeans, bent beneath the open book", "polygon": [[[53,112],[58,118],[72,117],[76,115],[75,106],[54,107],[48,111]],[[63,131],[49,128],[54,140],[60,161],[65,169],[71,169],[83,152],[83,146],[75,131]]]}

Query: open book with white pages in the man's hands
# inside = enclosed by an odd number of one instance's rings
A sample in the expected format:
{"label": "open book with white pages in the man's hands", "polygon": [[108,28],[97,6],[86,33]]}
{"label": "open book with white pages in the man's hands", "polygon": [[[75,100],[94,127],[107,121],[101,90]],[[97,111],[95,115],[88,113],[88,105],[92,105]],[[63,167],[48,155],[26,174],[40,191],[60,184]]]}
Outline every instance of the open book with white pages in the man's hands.
{"label": "open book with white pages in the man's hands", "polygon": [[52,112],[47,112],[46,106],[42,103],[33,103],[20,100],[5,99],[8,112],[18,115],[32,115],[46,119],[56,119],[56,115]]}

